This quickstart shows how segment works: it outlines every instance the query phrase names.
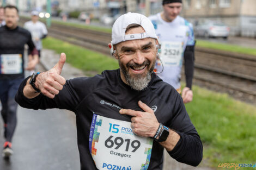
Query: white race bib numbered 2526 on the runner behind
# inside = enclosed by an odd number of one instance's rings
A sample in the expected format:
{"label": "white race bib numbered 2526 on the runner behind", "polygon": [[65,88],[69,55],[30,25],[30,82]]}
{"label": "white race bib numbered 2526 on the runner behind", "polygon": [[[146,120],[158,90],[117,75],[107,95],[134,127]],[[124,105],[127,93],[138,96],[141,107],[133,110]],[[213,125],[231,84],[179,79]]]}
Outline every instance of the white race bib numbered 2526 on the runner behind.
{"label": "white race bib numbered 2526 on the runner behind", "polygon": [[160,58],[164,66],[182,65],[182,42],[162,41]]}

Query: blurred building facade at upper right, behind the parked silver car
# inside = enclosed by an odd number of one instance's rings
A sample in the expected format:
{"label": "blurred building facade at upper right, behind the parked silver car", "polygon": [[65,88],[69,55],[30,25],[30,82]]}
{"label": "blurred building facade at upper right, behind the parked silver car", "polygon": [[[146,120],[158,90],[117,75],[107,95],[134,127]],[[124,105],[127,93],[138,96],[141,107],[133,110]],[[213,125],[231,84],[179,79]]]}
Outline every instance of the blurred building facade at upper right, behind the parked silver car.
{"label": "blurred building facade at upper right, behind the parked silver car", "polygon": [[230,35],[256,37],[255,0],[185,0],[182,16],[192,23],[221,21]]}

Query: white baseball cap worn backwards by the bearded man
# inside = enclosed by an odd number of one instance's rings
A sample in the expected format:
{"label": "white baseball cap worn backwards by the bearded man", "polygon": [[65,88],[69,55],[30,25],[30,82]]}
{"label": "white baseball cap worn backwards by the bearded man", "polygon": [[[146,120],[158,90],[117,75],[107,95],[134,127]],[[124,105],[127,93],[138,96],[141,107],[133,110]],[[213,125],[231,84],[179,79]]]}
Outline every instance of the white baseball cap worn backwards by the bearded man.
{"label": "white baseball cap worn backwards by the bearded man", "polygon": [[[125,34],[126,28],[131,24],[139,24],[145,33],[141,34]],[[157,39],[153,24],[146,16],[138,13],[128,12],[121,15],[113,24],[112,28],[112,45],[128,40],[137,40],[145,38]]]}

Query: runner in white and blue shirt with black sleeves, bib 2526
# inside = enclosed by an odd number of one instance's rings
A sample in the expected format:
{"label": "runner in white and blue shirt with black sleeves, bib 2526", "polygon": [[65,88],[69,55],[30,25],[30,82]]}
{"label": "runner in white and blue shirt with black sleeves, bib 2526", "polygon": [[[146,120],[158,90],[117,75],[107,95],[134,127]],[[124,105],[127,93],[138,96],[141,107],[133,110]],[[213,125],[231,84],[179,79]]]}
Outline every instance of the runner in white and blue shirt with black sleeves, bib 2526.
{"label": "runner in white and blue shirt with black sleeves, bib 2526", "polygon": [[[192,79],[194,72],[194,33],[191,23],[179,16],[181,0],[163,0],[163,11],[149,19],[154,24],[162,49],[155,72],[182,95],[184,103],[193,99]],[[185,61],[186,87],[181,92],[181,69]],[[162,62],[161,62],[162,61]]]}

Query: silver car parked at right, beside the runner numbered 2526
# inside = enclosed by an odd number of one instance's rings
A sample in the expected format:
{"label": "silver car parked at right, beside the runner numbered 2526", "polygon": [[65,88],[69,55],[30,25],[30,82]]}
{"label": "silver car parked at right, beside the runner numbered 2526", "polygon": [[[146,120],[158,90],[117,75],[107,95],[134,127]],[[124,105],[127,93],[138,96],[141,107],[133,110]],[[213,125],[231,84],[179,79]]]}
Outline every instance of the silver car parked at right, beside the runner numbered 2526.
{"label": "silver car parked at right, beside the runner numbered 2526", "polygon": [[195,27],[194,32],[196,36],[204,36],[206,38],[223,37],[223,39],[227,39],[229,35],[229,27],[220,22],[205,22],[198,24],[198,26]]}

